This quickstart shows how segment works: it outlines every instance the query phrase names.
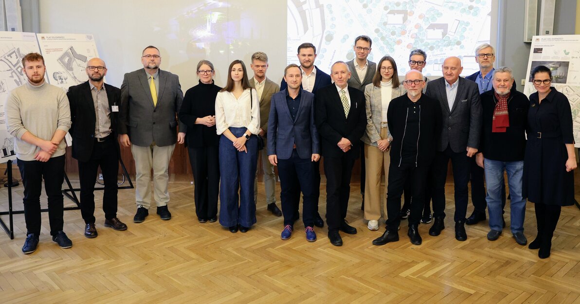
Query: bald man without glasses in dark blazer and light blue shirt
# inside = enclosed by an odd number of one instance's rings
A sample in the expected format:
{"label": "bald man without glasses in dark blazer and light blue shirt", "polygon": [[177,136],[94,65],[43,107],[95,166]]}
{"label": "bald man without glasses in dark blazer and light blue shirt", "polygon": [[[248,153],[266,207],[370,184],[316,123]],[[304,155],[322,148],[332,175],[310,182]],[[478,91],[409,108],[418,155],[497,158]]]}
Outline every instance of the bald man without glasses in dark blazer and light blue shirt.
{"label": "bald man without glasses in dark blazer and light blue shirt", "polygon": [[447,164],[451,159],[455,186],[455,238],[465,241],[465,216],[467,213],[467,183],[470,157],[479,147],[482,110],[477,84],[459,77],[463,67],[458,57],[448,57],[443,62],[443,78],[430,81],[426,95],[437,99],[443,113],[443,128],[437,143],[433,162],[433,211],[435,222],[429,234],[438,236],[444,229],[445,180]]}

